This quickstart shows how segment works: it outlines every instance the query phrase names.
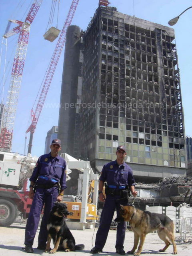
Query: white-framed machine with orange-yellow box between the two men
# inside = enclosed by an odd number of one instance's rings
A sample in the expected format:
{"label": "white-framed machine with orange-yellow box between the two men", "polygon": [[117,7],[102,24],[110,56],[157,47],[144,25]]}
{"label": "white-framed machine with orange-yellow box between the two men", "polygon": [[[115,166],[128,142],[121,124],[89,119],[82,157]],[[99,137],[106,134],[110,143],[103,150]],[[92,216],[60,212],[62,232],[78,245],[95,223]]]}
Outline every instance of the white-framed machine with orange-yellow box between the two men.
{"label": "white-framed machine with orange-yellow box between the two men", "polygon": [[63,196],[70,212],[68,227],[80,230],[92,228],[90,223],[97,220],[98,174],[94,174],[89,161],[77,160],[66,153],[61,153],[61,157],[66,160],[67,174],[72,169],[79,170],[78,196]]}

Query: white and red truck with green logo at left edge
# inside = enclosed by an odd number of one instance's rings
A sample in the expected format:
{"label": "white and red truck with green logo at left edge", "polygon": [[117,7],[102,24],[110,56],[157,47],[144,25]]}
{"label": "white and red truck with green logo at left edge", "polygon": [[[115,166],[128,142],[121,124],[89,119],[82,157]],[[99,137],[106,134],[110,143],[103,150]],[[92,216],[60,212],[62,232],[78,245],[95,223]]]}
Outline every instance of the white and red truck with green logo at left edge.
{"label": "white and red truck with green logo at left edge", "polygon": [[31,176],[38,158],[21,156],[18,153],[0,152],[0,226],[10,226],[18,210],[26,219],[32,200],[26,191],[27,179]]}

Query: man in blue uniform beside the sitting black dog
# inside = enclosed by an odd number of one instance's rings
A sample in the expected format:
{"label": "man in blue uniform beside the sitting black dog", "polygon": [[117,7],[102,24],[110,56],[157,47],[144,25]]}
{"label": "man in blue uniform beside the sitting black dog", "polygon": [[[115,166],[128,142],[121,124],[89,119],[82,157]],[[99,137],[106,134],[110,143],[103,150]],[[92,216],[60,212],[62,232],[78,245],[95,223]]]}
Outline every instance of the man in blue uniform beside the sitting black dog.
{"label": "man in blue uniform beside the sitting black dog", "polygon": [[[44,214],[38,236],[38,249],[45,250],[47,242],[48,216],[54,202],[62,201],[66,188],[66,161],[58,155],[61,141],[54,139],[50,145],[51,152],[40,156],[30,178],[29,197],[32,199],[30,213],[25,229],[25,251],[33,252],[33,241],[38,228],[40,214],[44,205]],[[36,183],[36,192],[33,188]]]}

